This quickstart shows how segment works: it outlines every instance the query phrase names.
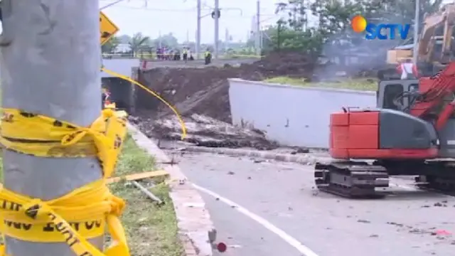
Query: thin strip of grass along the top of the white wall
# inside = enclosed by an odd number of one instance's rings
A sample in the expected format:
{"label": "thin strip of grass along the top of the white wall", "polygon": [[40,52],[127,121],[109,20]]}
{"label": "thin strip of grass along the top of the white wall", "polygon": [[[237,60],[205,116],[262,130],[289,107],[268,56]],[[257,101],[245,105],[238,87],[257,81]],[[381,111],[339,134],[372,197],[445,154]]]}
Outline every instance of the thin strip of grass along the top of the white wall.
{"label": "thin strip of grass along the top of the white wall", "polygon": [[372,78],[346,79],[339,82],[306,82],[301,78],[276,77],[264,80],[264,82],[278,83],[282,85],[298,85],[304,87],[325,87],[350,90],[376,91],[378,80]]}

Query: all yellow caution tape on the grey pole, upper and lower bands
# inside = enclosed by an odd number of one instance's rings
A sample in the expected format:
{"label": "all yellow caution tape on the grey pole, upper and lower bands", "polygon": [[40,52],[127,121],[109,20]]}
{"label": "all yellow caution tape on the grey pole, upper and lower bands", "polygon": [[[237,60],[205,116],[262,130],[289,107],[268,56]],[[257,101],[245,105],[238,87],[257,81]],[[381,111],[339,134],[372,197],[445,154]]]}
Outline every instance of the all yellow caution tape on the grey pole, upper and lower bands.
{"label": "all yellow caution tape on the grey pole, upper and lower bands", "polygon": [[[66,242],[80,256],[129,256],[119,220],[124,201],[106,186],[127,132],[126,117],[125,112],[103,110],[90,127],[78,127],[40,114],[4,109],[1,146],[33,156],[96,156],[104,178],[51,201],[18,195],[1,186],[2,235],[31,242]],[[113,242],[101,252],[87,239],[103,235],[106,227]],[[4,255],[1,245],[0,256]]]}

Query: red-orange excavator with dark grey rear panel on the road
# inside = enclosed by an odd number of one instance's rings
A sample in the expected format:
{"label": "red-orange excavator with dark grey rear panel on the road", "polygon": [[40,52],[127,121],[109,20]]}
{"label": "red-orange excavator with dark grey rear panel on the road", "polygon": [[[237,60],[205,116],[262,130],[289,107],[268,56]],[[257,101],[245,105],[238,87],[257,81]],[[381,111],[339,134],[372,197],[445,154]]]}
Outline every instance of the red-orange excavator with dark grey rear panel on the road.
{"label": "red-orange excavator with dark grey rear panel on the road", "polygon": [[[432,77],[379,82],[377,106],[330,116],[330,155],[317,163],[321,191],[376,197],[389,176],[417,176],[419,186],[455,188],[455,62]],[[366,159],[366,160],[365,160]]]}

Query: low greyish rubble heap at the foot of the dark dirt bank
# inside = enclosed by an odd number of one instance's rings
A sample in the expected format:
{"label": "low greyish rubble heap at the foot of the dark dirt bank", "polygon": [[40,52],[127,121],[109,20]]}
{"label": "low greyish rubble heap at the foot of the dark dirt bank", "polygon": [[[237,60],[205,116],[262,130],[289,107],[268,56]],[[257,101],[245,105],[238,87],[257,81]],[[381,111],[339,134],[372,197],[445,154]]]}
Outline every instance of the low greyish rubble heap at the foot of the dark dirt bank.
{"label": "low greyish rubble heap at the foot of the dark dirt bank", "polygon": [[[169,116],[163,119],[130,117],[129,121],[136,124],[147,137],[165,140],[180,140],[181,125],[177,117]],[[269,142],[263,132],[255,129],[243,129],[232,124],[200,114],[192,114],[183,119],[187,129],[185,142],[196,146],[210,147],[250,147],[260,150],[277,149],[275,142]]]}

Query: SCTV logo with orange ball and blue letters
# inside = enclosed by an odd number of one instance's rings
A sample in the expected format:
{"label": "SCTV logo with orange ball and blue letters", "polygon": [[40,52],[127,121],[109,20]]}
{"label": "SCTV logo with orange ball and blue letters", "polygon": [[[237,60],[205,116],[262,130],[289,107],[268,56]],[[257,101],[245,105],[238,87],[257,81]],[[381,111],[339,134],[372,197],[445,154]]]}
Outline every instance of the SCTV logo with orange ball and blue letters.
{"label": "SCTV logo with orange ball and blue letters", "polygon": [[363,33],[363,31],[365,31],[365,39],[367,40],[373,40],[376,38],[379,40],[394,40],[397,36],[400,36],[402,40],[405,40],[411,29],[410,24],[369,23],[361,15],[355,16],[352,21],[350,21],[350,25],[356,33]]}

